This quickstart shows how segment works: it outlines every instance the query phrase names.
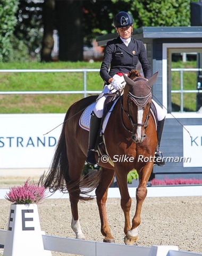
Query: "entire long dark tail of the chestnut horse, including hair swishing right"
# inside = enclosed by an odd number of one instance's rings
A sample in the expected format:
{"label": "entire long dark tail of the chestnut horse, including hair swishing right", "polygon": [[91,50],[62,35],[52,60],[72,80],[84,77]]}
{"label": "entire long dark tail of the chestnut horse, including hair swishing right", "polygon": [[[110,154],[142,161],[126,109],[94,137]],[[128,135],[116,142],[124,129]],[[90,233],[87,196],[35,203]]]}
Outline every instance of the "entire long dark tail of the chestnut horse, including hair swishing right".
{"label": "entire long dark tail of the chestnut horse, including hair swishing right", "polygon": [[69,161],[68,156],[66,155],[65,124],[69,118],[71,108],[72,107],[69,108],[65,115],[62,132],[57,142],[51,167],[49,167],[47,176],[46,173],[44,173],[40,177],[39,183],[45,188],[49,188],[49,190],[53,193],[56,190],[61,190],[63,193],[68,193],[68,191],[71,191],[71,194],[74,194],[74,196],[79,200],[89,201],[95,197],[90,194],[99,184],[101,171],[99,170],[90,178],[82,177],[79,181],[70,181]]}

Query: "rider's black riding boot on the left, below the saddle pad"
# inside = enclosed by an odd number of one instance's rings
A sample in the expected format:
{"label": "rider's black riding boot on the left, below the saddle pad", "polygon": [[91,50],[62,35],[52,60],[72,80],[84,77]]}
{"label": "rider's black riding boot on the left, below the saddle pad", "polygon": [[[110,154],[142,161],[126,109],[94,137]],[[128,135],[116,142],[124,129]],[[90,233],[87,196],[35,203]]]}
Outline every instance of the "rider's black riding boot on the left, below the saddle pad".
{"label": "rider's black riding boot on the left, below the saddle pad", "polygon": [[100,129],[100,123],[102,118],[98,118],[94,111],[92,111],[91,118],[90,118],[90,132],[89,132],[89,142],[88,142],[88,155],[86,158],[86,162],[91,165],[95,165],[95,144],[97,141],[97,135]]}

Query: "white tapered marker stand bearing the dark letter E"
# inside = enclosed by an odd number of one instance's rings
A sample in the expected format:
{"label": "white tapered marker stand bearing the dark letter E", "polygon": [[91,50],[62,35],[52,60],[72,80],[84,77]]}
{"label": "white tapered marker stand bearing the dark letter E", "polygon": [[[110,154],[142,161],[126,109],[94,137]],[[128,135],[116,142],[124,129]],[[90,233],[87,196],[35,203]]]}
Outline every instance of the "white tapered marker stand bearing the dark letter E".
{"label": "white tapered marker stand bearing the dark letter E", "polygon": [[37,204],[11,204],[4,255],[51,256],[41,232]]}

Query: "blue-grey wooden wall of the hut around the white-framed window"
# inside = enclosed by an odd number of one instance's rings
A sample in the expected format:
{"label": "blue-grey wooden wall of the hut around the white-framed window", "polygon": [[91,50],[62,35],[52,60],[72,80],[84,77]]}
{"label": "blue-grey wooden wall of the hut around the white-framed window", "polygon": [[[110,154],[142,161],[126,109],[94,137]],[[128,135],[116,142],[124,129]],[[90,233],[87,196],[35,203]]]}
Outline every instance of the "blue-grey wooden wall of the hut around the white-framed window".
{"label": "blue-grey wooden wall of the hut around the white-framed window", "polygon": [[[195,38],[194,43],[201,43],[202,38]],[[157,82],[153,86],[153,99],[162,106],[162,47],[163,43],[193,43],[193,38],[166,38],[153,40],[153,73],[159,71]],[[158,102],[159,101],[159,102]],[[166,106],[165,106],[166,107]],[[174,113],[172,113],[175,115]],[[179,118],[182,125],[202,125],[200,118]],[[175,119],[166,118],[161,150],[164,157],[183,157],[183,127]],[[196,178],[202,179],[202,167],[183,167],[183,162],[166,162],[165,166],[154,166],[152,178]]]}

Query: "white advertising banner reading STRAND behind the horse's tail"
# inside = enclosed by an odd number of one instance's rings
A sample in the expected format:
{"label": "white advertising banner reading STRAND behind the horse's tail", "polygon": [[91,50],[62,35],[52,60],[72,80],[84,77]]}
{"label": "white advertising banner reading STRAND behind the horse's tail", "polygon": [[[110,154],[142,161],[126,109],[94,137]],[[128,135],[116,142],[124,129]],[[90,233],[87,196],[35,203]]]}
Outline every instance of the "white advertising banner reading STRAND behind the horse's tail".
{"label": "white advertising banner reading STRAND behind the horse's tail", "polygon": [[0,115],[0,169],[48,168],[64,117],[65,114]]}

